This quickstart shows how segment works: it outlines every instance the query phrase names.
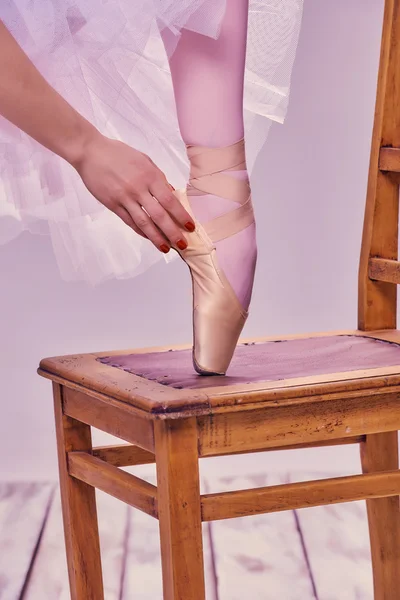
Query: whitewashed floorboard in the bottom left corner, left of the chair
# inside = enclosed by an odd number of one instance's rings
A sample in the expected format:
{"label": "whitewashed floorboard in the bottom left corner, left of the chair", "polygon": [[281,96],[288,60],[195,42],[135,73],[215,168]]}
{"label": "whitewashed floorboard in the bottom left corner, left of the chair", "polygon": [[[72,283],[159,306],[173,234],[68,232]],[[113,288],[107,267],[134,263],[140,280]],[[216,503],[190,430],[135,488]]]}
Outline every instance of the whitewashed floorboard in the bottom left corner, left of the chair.
{"label": "whitewashed floorboard in the bottom left corner, left of the chair", "polygon": [[51,484],[0,484],[1,600],[21,596],[53,491]]}

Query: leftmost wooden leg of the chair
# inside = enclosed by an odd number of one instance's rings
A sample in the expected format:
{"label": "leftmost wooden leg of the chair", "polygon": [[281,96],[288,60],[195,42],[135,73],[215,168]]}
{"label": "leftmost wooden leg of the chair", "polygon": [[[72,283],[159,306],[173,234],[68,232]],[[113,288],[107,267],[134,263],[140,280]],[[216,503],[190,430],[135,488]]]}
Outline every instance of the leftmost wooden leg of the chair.
{"label": "leftmost wooden leg of the chair", "polygon": [[103,600],[95,489],[71,477],[67,462],[67,452],[92,449],[90,427],[63,414],[59,384],[53,394],[71,600]]}

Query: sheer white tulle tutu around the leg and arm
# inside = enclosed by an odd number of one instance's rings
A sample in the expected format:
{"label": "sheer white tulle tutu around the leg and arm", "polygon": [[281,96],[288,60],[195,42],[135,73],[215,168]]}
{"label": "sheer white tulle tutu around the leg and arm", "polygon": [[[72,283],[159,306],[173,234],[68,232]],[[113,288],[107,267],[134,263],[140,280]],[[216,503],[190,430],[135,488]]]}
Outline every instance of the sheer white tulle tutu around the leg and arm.
{"label": "sheer white tulle tutu around the leg and arm", "polygon": [[[148,154],[175,186],[188,175],[167,55],[182,28],[218,37],[226,0],[1,0],[0,19],[46,79],[105,135]],[[283,122],[303,0],[250,0],[245,129],[251,169]],[[75,170],[0,117],[0,243],[48,233],[61,275],[93,284],[163,258],[105,209]]]}

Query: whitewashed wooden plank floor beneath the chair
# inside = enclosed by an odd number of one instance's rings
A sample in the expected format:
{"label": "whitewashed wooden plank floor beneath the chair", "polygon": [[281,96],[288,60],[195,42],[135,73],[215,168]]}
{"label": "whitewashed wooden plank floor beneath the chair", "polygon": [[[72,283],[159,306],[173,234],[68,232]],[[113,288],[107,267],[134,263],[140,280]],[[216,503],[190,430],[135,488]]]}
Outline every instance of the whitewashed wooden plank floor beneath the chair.
{"label": "whitewashed wooden plank floor beneath the chair", "polygon": [[[203,491],[277,483],[207,479]],[[102,493],[98,512],[106,600],[161,600],[157,521]],[[372,599],[363,503],[207,523],[204,543],[207,600]],[[56,486],[0,484],[0,600],[69,598]]]}

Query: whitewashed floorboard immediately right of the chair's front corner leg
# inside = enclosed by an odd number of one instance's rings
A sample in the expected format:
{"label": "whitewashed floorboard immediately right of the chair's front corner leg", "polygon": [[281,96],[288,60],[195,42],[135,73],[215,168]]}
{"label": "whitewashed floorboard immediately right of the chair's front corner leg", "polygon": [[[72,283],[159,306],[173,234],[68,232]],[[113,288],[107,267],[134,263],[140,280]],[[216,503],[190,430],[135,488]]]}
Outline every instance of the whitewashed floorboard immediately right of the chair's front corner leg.
{"label": "whitewashed floorboard immediately right of the chair's front corner leg", "polygon": [[[220,478],[209,483],[209,491],[279,483],[278,477],[263,475]],[[215,521],[211,531],[218,600],[315,599],[293,512]]]}

